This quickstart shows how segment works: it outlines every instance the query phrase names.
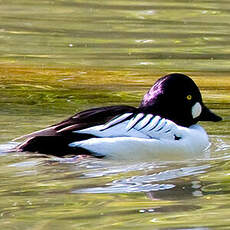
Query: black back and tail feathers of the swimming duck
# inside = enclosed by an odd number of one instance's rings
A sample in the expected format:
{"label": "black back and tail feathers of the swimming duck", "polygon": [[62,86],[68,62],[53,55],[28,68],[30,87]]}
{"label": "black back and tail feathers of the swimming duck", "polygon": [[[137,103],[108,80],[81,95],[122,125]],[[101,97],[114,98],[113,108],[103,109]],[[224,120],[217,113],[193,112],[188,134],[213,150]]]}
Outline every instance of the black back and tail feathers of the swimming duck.
{"label": "black back and tail feathers of the swimming duck", "polygon": [[132,106],[119,105],[82,111],[46,129],[26,135],[27,139],[17,147],[17,151],[39,152],[55,156],[86,154],[88,152],[81,149],[76,152],[76,149],[70,148],[69,144],[94,136],[74,133],[73,131],[101,125],[117,115],[127,112],[134,113],[136,110]]}

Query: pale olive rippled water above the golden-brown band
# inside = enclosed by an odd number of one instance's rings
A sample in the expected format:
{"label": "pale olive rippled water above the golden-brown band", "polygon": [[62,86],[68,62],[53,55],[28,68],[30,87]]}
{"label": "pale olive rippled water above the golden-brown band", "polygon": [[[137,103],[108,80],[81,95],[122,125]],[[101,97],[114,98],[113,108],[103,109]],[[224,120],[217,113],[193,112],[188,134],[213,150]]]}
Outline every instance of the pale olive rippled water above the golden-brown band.
{"label": "pale olive rippled water above the golden-brown band", "polygon": [[0,2],[4,63],[229,71],[228,1]]}

